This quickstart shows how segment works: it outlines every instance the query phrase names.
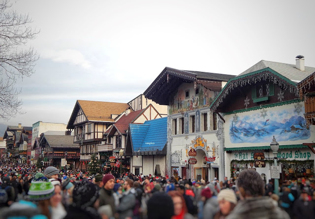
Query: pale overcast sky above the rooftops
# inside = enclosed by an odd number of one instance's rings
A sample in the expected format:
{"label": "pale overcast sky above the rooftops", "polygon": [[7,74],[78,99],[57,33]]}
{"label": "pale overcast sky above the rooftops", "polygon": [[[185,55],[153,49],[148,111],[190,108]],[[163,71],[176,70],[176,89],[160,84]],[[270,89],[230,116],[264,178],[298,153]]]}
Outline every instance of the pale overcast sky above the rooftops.
{"label": "pale overcast sky above the rooftops", "polygon": [[[67,124],[77,99],[128,102],[165,66],[238,75],[260,60],[315,67],[314,0],[16,0],[40,29],[23,115]],[[302,80],[302,78],[301,78]]]}

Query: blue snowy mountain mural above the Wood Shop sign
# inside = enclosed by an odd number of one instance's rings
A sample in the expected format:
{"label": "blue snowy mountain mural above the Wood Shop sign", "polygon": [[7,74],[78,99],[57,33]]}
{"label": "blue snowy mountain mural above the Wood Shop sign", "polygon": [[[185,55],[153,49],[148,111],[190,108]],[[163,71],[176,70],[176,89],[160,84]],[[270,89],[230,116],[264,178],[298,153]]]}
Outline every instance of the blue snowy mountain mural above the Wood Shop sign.
{"label": "blue snowy mountain mural above the Wood Shop sign", "polygon": [[301,103],[284,110],[262,108],[260,112],[239,116],[230,120],[229,135],[232,143],[260,143],[275,138],[277,141],[297,141],[308,139],[310,130],[306,127]]}

